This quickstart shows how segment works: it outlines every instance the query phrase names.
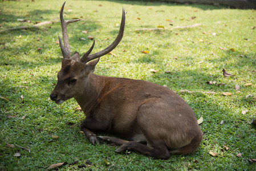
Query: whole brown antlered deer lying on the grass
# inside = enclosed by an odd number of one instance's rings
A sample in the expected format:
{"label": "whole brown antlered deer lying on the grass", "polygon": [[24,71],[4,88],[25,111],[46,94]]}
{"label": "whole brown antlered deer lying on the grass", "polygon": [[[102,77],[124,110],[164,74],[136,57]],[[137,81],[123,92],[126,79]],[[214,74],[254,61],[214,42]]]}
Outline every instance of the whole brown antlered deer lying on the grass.
{"label": "whole brown antlered deer lying on the grass", "polygon": [[[74,97],[86,114],[81,131],[92,144],[107,142],[120,145],[115,150],[117,153],[132,150],[167,159],[170,153],[196,152],[202,140],[201,129],[193,110],[175,92],[143,80],[93,74],[100,56],[112,51],[123,37],[124,9],[114,42],[90,55],[94,42],[80,58],[78,52],[71,56],[67,34],[67,25],[79,19],[64,21],[64,5],[65,2],[60,10],[64,46],[59,37],[62,68],[58,73],[58,83],[51,92],[51,100],[62,104]],[[113,133],[131,141],[96,136],[91,130]]]}

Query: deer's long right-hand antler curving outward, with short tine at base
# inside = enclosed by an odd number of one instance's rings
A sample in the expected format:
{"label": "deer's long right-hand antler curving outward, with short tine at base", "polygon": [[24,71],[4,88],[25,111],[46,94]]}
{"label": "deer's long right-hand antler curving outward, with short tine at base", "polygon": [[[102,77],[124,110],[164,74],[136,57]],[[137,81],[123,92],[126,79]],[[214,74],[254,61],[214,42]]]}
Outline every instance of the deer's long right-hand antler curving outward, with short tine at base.
{"label": "deer's long right-hand antler curving outward, with short tine at base", "polygon": [[123,14],[122,14],[122,19],[121,19],[121,25],[120,25],[120,29],[119,29],[119,34],[116,36],[116,39],[113,41],[113,43],[111,43],[107,48],[105,48],[104,50],[101,50],[99,52],[96,52],[95,54],[90,54],[90,52],[92,51],[92,48],[94,48],[94,43],[92,44],[90,50],[88,50],[83,57],[80,59],[80,62],[82,63],[87,63],[90,60],[99,58],[100,56],[103,56],[105,54],[107,54],[108,52],[111,52],[121,41],[121,39],[123,38],[124,35],[124,26],[125,26],[125,11],[123,8]]}

